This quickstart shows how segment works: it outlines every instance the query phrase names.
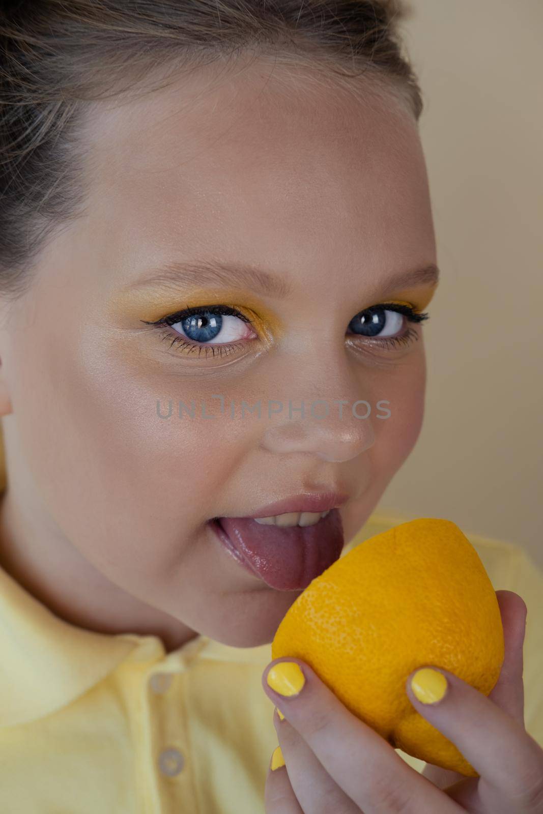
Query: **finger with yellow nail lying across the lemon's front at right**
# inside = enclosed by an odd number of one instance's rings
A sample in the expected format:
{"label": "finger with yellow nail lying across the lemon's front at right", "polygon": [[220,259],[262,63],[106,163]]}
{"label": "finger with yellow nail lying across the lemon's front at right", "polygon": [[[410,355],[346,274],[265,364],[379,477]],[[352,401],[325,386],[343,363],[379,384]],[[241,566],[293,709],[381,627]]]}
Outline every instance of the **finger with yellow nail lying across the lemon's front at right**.
{"label": "finger with yellow nail lying across the lemon's front at right", "polygon": [[405,688],[415,709],[458,747],[489,786],[506,799],[519,799],[541,779],[541,747],[475,687],[442,667],[427,666],[445,676],[446,692],[434,703],[419,701],[410,686],[412,673]]}

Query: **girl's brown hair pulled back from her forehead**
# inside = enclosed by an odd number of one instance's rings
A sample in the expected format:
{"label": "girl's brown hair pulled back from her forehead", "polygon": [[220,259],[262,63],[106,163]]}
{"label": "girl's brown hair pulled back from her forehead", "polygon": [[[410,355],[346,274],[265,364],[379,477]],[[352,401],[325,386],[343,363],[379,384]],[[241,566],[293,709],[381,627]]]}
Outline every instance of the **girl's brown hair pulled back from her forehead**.
{"label": "girl's brown hair pulled back from her forehead", "polygon": [[409,12],[401,0],[2,0],[0,293],[24,293],[46,242],[84,211],[78,125],[92,103],[252,53],[351,88],[370,74],[418,121],[398,33]]}

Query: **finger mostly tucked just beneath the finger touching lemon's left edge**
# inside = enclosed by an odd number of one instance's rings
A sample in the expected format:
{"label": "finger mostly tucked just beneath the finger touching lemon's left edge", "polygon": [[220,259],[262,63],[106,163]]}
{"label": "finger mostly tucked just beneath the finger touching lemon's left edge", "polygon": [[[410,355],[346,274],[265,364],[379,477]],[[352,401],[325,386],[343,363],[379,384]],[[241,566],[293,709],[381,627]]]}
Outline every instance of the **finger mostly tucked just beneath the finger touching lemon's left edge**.
{"label": "finger mostly tucked just beneath the finger touching lemon's left edge", "polygon": [[282,756],[296,799],[310,814],[361,814],[360,808],[341,790],[287,720],[274,713],[274,724]]}

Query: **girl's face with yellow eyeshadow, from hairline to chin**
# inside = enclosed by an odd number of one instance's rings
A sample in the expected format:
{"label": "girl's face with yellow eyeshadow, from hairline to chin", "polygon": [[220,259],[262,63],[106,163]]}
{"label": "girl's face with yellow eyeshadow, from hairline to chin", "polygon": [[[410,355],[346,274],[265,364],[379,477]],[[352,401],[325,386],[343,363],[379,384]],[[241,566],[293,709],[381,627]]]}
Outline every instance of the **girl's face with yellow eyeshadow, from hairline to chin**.
{"label": "girl's face with yellow eyeshadow, from hairline to chin", "polygon": [[[302,589],[208,521],[336,490],[347,543],[421,427],[422,326],[366,311],[435,291],[400,279],[436,262],[417,127],[392,95],[289,94],[253,68],[96,105],[85,138],[85,214],[2,328],[11,500],[81,619],[103,590],[107,619],[134,608],[121,630],[148,612],[180,640],[263,644]],[[211,305],[233,313],[149,324]]]}

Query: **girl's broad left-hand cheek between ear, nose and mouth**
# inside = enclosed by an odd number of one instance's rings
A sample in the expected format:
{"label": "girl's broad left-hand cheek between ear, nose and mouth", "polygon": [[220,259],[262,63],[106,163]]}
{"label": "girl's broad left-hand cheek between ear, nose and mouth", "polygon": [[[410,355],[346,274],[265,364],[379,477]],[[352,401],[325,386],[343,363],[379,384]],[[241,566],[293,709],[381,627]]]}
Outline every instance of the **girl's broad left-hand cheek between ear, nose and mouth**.
{"label": "girl's broad left-hand cheek between ear, nose and mouth", "polygon": [[[65,344],[50,331],[21,344],[15,364],[25,457],[60,532],[118,584],[142,571],[159,580],[215,514],[243,457],[243,422],[201,417],[201,400],[219,412],[216,383],[208,395],[194,380],[138,374],[98,336]],[[191,397],[195,418],[179,418]],[[157,400],[165,415],[170,399],[171,418],[160,418]]]}

